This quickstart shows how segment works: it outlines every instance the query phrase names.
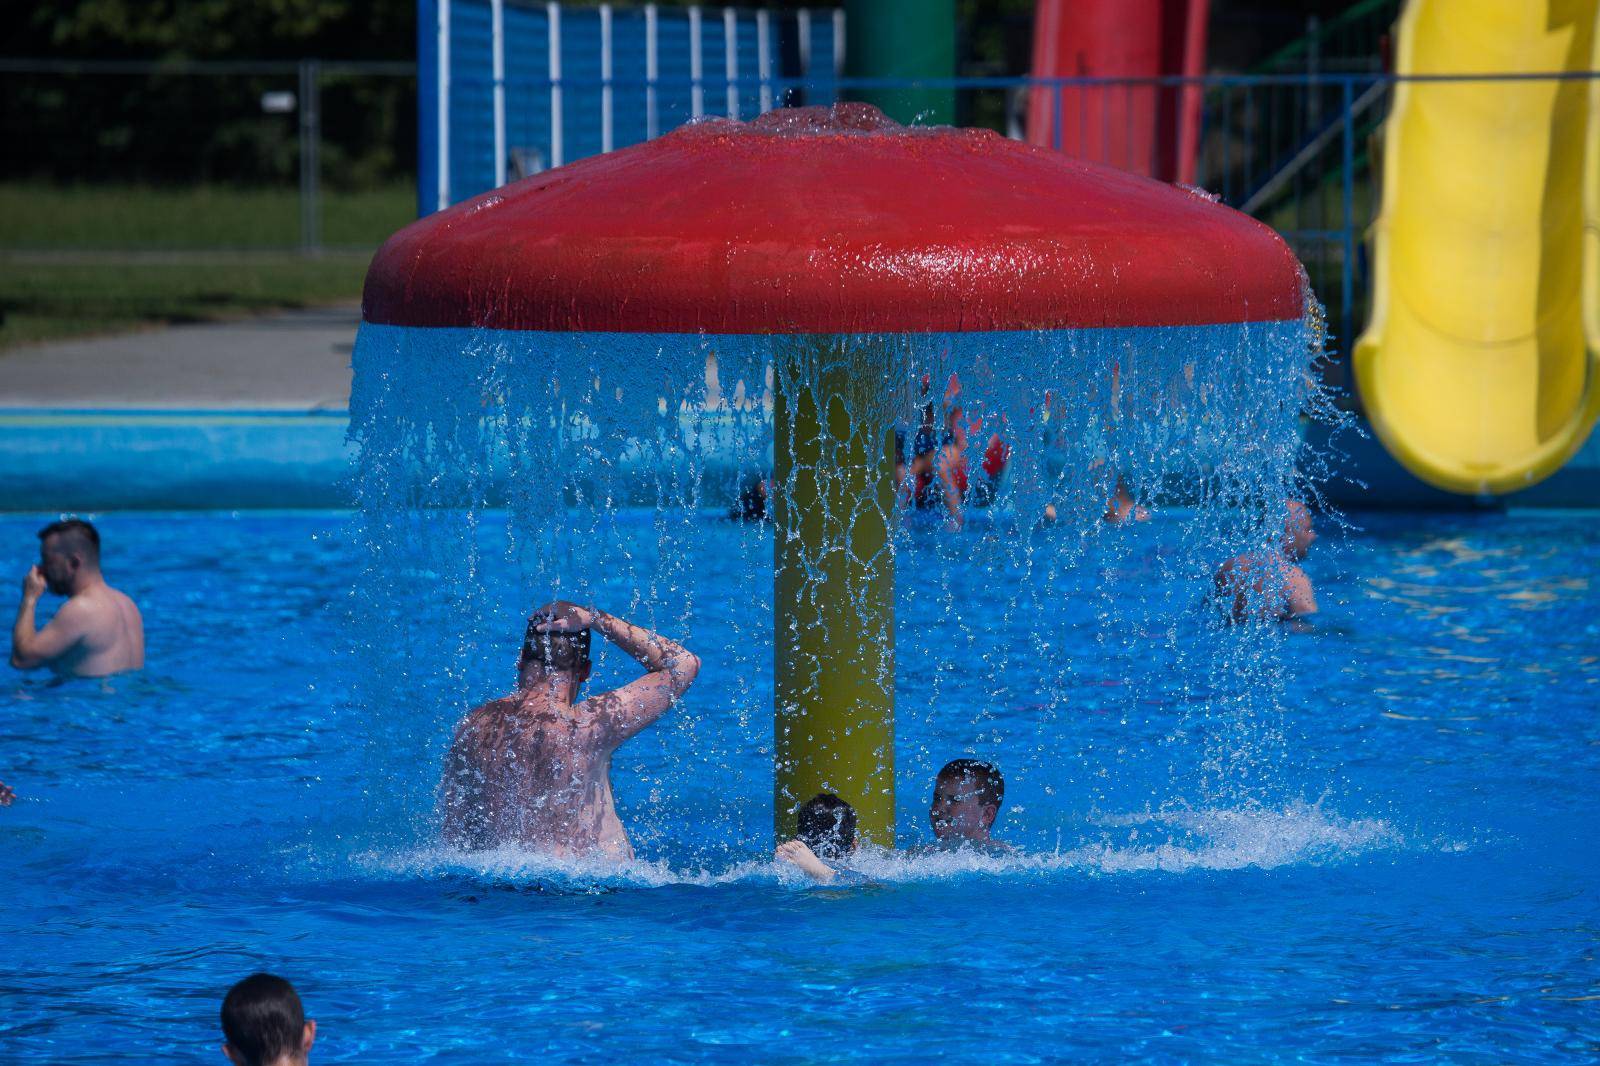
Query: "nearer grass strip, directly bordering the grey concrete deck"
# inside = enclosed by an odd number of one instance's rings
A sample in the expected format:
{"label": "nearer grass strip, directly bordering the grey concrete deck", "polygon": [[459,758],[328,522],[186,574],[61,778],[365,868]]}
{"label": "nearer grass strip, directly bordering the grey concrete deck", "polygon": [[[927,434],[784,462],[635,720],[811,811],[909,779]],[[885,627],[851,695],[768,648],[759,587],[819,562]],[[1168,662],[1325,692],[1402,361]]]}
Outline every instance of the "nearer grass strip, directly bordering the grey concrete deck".
{"label": "nearer grass strip, directly bordering the grey concrete deck", "polygon": [[[0,253],[0,352],[18,344],[360,298],[368,254]],[[3,354],[0,354],[3,359]]]}

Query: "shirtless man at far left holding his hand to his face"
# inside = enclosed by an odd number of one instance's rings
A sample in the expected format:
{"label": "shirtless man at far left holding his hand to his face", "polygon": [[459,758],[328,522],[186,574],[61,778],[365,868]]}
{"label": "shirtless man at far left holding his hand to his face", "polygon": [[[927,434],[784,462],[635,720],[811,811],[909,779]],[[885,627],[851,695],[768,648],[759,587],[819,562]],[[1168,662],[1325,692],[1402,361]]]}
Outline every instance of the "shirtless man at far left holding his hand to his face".
{"label": "shirtless man at far left holding his hand to his face", "polygon": [[[34,611],[45,591],[67,597],[37,629]],[[51,522],[38,531],[38,565],[22,579],[22,603],[11,626],[11,666],[48,666],[64,677],[106,677],[144,666],[144,619],[99,571],[99,533],[82,519]]]}

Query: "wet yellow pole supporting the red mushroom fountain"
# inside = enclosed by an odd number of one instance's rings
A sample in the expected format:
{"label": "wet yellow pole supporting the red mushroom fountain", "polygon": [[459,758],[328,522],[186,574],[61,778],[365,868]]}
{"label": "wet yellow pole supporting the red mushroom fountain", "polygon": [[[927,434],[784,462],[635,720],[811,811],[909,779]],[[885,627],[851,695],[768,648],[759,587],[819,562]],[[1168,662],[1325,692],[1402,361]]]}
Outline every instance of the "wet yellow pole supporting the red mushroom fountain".
{"label": "wet yellow pole supporting the red mushroom fountain", "polygon": [[778,839],[818,792],[894,845],[894,453],[886,344],[779,346],[774,429]]}

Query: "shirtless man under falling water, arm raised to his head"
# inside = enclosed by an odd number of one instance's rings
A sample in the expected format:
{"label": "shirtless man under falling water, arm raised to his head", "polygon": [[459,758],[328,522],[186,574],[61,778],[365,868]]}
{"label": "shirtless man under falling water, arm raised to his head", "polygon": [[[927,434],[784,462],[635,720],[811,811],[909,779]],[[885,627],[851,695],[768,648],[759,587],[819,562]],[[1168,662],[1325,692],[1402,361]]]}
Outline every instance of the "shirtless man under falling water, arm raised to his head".
{"label": "shirtless man under falling water, arm raised to his head", "polygon": [[[579,699],[590,631],[638,659],[645,675]],[[565,600],[541,607],[528,619],[517,691],[456,727],[445,757],[445,842],[634,858],[611,800],[611,752],[659,719],[696,674],[699,658],[675,640]]]}

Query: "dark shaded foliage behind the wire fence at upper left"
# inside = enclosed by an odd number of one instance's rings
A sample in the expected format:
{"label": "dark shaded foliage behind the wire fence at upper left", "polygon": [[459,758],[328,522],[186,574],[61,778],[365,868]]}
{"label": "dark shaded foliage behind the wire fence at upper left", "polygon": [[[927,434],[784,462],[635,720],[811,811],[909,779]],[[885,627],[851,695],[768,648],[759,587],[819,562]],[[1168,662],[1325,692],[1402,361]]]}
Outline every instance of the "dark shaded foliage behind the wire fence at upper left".
{"label": "dark shaded foliage behind the wire fence at upper left", "polygon": [[[414,0],[62,0],[34,5],[5,50],[35,59],[411,61]],[[6,74],[0,178],[275,182],[299,168],[298,117],[261,110],[298,75]],[[363,187],[416,165],[416,80],[320,78],[323,181]]]}

